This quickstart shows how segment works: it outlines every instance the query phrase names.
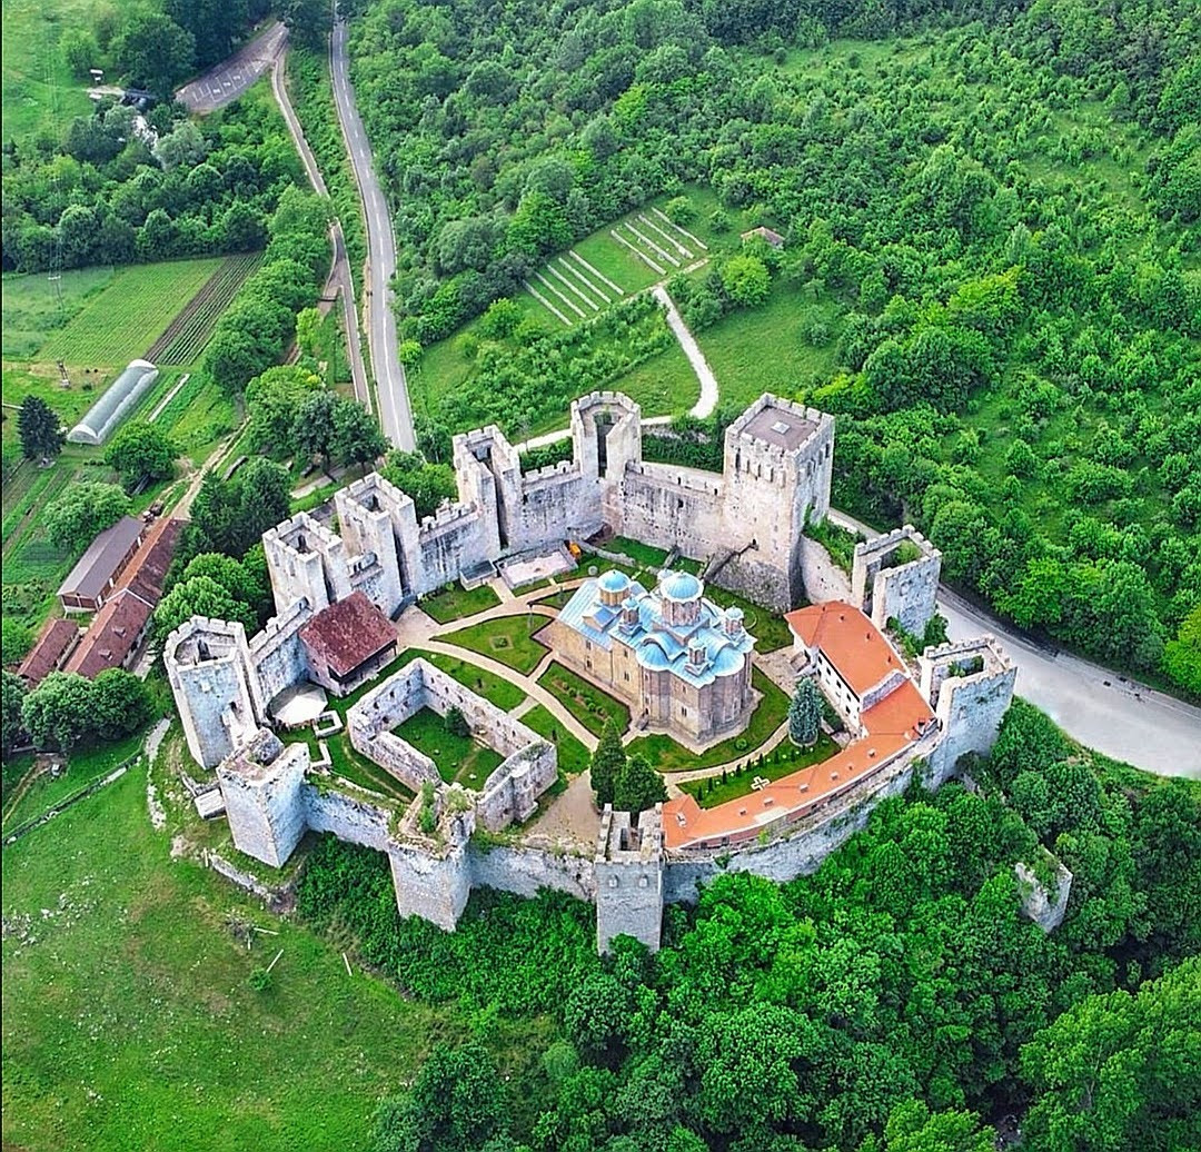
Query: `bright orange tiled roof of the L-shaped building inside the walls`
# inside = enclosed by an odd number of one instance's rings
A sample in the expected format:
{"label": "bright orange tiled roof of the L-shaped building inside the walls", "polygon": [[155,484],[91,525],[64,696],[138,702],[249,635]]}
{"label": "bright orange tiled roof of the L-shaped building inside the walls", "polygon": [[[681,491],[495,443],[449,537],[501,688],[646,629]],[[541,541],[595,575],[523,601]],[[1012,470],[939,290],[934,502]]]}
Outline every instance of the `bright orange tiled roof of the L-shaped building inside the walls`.
{"label": "bright orange tiled roof of the L-shaped building inside the walls", "polygon": [[[821,609],[831,611],[825,613]],[[853,619],[852,613],[859,619]],[[844,619],[839,620],[839,616]],[[789,613],[785,619],[793,632],[811,645],[813,640],[807,637],[824,635],[823,629],[829,628],[830,643],[842,653],[848,671],[843,671],[824,645],[820,646],[843,679],[858,669],[862,674],[859,676],[860,680],[862,676],[871,676],[867,684],[870,688],[879,684],[892,668],[900,667],[900,670],[904,671],[903,664],[890,665],[886,661],[882,662],[883,649],[891,652],[894,661],[900,662],[900,657],[892,652],[891,645],[880,635],[879,629],[850,604],[839,601],[814,604],[812,608]],[[876,641],[870,637],[859,638],[861,622],[876,633]],[[847,682],[852,688],[855,687],[849,679]],[[749,795],[728,800],[711,808],[703,808],[689,795],[669,800],[663,805],[663,842],[668,848],[687,848],[705,841],[716,846],[725,837],[729,837],[731,843],[737,843],[751,840],[758,835],[760,828],[782,818],[799,819],[819,804],[867,780],[885,764],[891,763],[921,739],[933,718],[934,714],[907,674],[884,699],[860,715],[865,734],[829,760],[803,768],[799,772],[781,777],[759,792],[752,792]]]}

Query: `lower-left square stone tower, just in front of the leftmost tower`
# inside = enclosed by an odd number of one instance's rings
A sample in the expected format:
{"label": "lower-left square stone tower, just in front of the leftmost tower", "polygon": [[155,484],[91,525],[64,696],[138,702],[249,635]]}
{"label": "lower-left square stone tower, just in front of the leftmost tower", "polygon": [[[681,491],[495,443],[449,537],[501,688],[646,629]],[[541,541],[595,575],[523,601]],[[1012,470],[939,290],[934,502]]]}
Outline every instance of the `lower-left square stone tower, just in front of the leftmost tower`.
{"label": "lower-left square stone tower, just in front of the leftmost tower", "polygon": [[309,745],[285,745],[261,729],[217,766],[233,846],[271,867],[282,867],[300,843],[305,822],[304,774]]}

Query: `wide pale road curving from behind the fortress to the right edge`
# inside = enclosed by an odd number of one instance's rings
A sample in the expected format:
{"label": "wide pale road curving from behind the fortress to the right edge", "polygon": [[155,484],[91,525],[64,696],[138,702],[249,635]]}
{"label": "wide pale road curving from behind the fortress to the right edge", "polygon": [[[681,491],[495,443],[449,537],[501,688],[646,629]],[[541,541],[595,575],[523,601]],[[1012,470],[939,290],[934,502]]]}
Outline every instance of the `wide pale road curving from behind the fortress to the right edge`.
{"label": "wide pale road curving from behind the fortress to the right edge", "polygon": [[[880,533],[830,511],[830,519],[867,537]],[[1160,776],[1201,780],[1201,709],[1066,652],[1046,647],[969,603],[945,584],[939,611],[952,640],[991,633],[1017,664],[1017,691],[1068,735],[1116,760]]]}

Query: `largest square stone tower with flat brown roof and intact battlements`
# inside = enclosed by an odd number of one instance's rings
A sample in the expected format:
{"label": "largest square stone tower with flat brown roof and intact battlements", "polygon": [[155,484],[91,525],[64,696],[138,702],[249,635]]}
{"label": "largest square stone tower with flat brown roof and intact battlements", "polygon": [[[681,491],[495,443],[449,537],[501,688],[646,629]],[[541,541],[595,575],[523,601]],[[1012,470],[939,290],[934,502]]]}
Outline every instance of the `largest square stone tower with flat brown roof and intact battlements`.
{"label": "largest square stone tower with flat brown roof and intact battlements", "polygon": [[802,537],[830,508],[833,419],[765,394],[725,430],[723,585],[787,610],[805,595]]}

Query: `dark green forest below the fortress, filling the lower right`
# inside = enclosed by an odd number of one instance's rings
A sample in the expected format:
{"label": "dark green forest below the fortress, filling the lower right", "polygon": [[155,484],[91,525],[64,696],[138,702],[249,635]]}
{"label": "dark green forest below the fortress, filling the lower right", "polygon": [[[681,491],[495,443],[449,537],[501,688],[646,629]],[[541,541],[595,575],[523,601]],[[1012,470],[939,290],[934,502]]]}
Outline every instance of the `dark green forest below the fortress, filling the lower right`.
{"label": "dark green forest below the fortress, filling the lower right", "polygon": [[[985,1152],[1006,1116],[1033,1152],[1196,1147],[1197,786],[1021,702],[972,775],[884,802],[813,876],[669,906],[655,956],[598,959],[592,908],[558,894],[477,893],[449,935],[401,920],[386,859],[322,840],[300,915],[473,1020],[384,1103],[376,1148]],[[1050,935],[1014,872],[1045,849],[1074,873]],[[530,1051],[497,1050],[501,1019]]]}

